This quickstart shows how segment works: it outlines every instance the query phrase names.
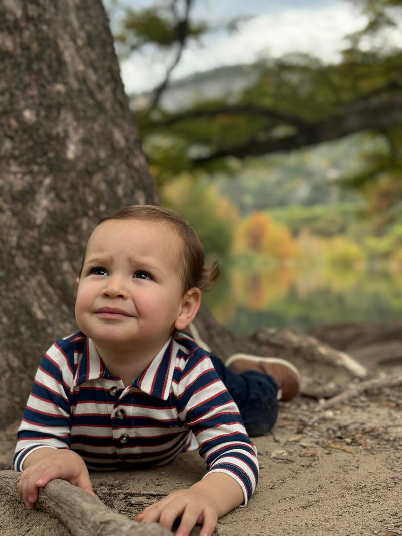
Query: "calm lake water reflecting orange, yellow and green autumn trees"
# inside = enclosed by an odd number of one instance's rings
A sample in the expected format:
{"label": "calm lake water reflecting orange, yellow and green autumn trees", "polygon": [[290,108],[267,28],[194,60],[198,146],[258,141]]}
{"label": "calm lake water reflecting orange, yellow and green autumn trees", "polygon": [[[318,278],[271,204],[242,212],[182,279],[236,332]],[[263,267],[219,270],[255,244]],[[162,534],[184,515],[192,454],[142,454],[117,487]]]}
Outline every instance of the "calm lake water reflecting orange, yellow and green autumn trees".
{"label": "calm lake water reflecting orange, yellow and green autumn trees", "polygon": [[203,297],[217,320],[239,335],[257,327],[402,321],[402,270],[328,266],[232,267]]}

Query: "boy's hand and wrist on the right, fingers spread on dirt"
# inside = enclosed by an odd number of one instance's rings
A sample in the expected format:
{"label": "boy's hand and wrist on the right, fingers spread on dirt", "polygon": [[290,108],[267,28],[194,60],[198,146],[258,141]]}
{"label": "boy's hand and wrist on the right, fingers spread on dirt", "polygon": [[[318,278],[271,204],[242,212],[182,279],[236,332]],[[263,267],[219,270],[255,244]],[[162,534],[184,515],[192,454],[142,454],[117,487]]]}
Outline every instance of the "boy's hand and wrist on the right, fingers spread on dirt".
{"label": "boy's hand and wrist on the right, fingers spread on dirt", "polygon": [[202,524],[200,536],[211,536],[218,517],[242,504],[243,500],[242,489],[232,477],[211,473],[190,489],[171,493],[148,506],[136,520],[159,522],[171,530],[175,520],[181,517],[176,536],[189,536],[196,524]]}

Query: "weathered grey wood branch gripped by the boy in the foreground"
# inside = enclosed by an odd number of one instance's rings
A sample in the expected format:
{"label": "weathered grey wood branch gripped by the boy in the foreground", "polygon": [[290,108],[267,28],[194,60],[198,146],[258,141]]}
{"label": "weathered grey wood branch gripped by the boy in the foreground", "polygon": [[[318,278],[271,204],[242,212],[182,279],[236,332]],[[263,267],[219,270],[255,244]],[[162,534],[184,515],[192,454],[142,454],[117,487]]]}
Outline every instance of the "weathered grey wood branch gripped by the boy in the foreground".
{"label": "weathered grey wood branch gripped by the boy in the foreground", "polygon": [[[17,488],[19,475],[16,471],[0,471],[0,492],[25,508]],[[57,518],[72,536],[172,536],[157,523],[137,523],[112,512],[98,498],[65,480],[52,480],[40,489],[36,508]]]}

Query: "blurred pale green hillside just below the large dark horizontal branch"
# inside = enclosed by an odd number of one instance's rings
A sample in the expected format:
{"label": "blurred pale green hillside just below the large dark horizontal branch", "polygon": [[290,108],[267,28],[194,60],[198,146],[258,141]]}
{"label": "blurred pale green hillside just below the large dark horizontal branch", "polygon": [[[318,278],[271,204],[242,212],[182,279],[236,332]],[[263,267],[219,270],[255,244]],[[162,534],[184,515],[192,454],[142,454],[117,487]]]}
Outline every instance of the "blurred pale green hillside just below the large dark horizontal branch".
{"label": "blurred pale green hillside just below the large dark horizontal branch", "polygon": [[342,177],[357,172],[363,151],[378,150],[382,143],[359,134],[299,151],[249,158],[239,162],[232,176],[217,175],[214,182],[243,215],[288,206],[360,205],[361,196],[343,188]]}

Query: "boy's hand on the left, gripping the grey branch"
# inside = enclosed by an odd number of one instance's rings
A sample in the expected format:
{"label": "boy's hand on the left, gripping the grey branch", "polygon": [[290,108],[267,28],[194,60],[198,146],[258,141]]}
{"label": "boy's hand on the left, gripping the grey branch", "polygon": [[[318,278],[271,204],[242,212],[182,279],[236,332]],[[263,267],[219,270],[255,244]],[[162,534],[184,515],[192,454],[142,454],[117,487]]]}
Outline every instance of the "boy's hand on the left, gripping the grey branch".
{"label": "boy's hand on the left, gripping the grey branch", "polygon": [[72,450],[46,447],[34,450],[24,460],[23,469],[18,489],[27,508],[32,508],[38,500],[38,489],[56,478],[95,495],[84,460]]}

